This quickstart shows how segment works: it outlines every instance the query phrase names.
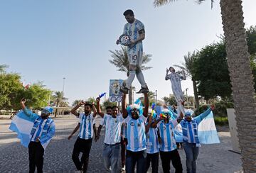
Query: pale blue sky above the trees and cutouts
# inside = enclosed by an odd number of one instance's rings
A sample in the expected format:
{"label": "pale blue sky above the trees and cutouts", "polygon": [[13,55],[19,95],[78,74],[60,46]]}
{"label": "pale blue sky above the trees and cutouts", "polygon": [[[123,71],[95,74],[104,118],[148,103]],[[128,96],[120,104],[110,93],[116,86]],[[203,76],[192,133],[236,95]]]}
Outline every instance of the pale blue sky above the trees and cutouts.
{"label": "pale blue sky above the trees and cutouts", "polygon": [[[256,25],[256,1],[243,2],[245,27]],[[126,23],[122,13],[132,9],[144,23],[144,52],[152,55],[144,72],[158,98],[172,93],[164,80],[166,67],[180,65],[188,51],[200,50],[223,34],[219,1],[201,5],[193,0],[175,1],[154,8],[153,1],[0,1],[0,64],[21,74],[27,83],[41,81],[48,89],[75,99],[108,92],[110,79],[126,79],[110,65],[109,50],[119,50],[115,41]],[[134,79],[136,89],[139,82]],[[182,82],[193,95],[190,79]],[[135,95],[137,98],[140,95]]]}

